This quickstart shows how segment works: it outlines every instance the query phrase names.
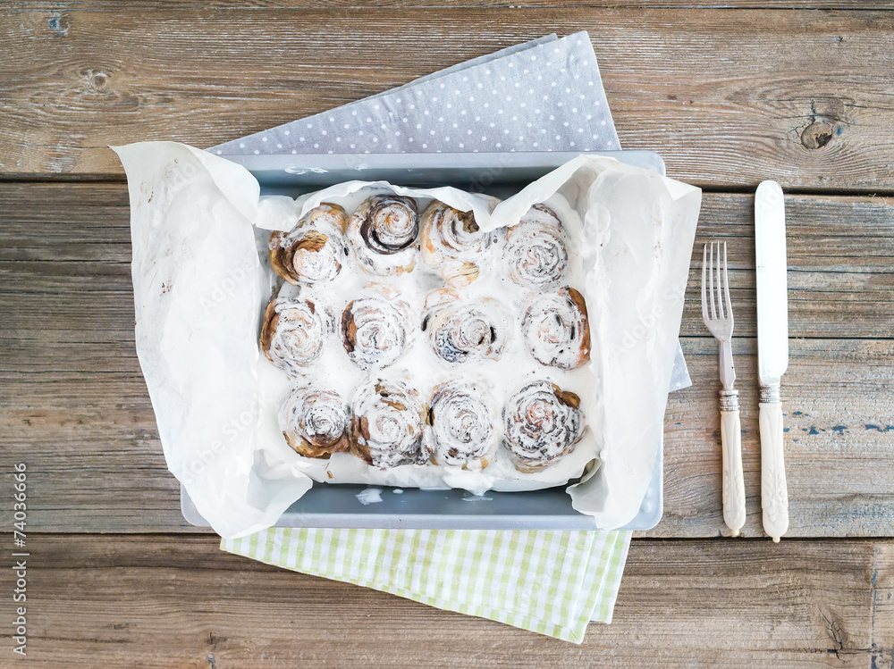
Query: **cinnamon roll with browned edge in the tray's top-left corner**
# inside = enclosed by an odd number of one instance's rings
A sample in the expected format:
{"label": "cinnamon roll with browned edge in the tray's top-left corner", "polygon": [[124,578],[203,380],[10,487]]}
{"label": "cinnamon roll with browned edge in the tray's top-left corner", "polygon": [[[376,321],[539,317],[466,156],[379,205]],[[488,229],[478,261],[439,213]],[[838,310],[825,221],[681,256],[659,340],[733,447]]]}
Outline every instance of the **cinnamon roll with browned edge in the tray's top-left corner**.
{"label": "cinnamon roll with browned edge in the tray's top-left corner", "polygon": [[323,203],[304,216],[291,232],[270,236],[270,265],[297,285],[299,281],[331,281],[348,255],[344,231],[348,217],[339,205]]}

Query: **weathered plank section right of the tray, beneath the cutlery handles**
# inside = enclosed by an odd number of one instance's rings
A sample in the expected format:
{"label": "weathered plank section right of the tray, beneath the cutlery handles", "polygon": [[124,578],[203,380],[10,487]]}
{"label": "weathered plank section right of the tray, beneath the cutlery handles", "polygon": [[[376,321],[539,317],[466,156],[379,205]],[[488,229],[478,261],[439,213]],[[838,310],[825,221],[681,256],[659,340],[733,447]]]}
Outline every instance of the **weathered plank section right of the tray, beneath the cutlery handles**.
{"label": "weathered plank section right of the tray, beneath the cutlery handles", "polygon": [[[665,417],[664,519],[652,537],[724,532],[717,346],[684,339],[694,385]],[[742,404],[746,536],[763,536],[757,347],[733,346]],[[792,339],[782,384],[791,536],[894,531],[894,368],[890,340]],[[874,529],[870,529],[874,528]]]}

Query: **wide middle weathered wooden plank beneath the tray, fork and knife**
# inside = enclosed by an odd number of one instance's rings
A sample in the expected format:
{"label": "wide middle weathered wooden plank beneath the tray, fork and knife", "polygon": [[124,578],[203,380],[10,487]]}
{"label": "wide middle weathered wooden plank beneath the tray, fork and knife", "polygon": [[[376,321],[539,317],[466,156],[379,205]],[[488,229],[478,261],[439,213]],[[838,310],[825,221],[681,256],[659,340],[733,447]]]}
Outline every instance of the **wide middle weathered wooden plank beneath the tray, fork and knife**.
{"label": "wide middle weathered wooden plank beneath the tray, fork and knife", "polygon": [[[754,335],[751,206],[750,197],[707,195],[699,233],[730,240],[743,337]],[[789,197],[793,334],[872,338],[792,340],[785,394],[798,536],[891,533],[892,210],[880,198]],[[35,472],[32,521],[54,531],[188,529],[133,349],[124,186],[0,184],[0,212],[0,464],[23,459]],[[695,255],[684,332],[703,335]],[[853,276],[863,278],[862,293],[851,292]],[[685,344],[696,387],[671,397],[666,514],[652,536],[723,528],[716,346]],[[737,351],[746,534],[756,535],[754,342],[741,339]],[[113,517],[97,516],[112,507]]]}

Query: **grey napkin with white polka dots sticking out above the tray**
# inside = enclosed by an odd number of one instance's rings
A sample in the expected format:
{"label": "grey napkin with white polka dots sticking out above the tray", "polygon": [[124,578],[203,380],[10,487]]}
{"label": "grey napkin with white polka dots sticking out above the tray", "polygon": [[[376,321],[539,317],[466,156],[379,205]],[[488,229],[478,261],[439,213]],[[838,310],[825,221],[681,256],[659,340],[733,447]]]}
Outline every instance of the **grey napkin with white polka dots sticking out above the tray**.
{"label": "grey napkin with white polka dots sticking out above the tray", "polygon": [[263,155],[617,148],[593,46],[579,32],[510,47],[210,150]]}

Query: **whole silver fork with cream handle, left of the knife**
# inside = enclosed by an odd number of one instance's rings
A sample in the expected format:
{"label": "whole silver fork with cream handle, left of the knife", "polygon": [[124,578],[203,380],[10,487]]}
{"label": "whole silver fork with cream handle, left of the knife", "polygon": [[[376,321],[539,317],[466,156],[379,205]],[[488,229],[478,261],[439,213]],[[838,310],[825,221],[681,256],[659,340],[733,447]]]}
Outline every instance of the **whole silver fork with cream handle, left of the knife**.
{"label": "whole silver fork with cream handle, left of the knife", "polygon": [[[716,249],[716,261],[715,253]],[[736,368],[732,364],[732,303],[727,274],[726,242],[704,245],[702,255],[702,320],[720,342],[721,444],[723,453],[723,522],[738,537],[745,524],[745,480],[742,475],[742,430],[738,418]],[[716,283],[715,283],[716,280]]]}

